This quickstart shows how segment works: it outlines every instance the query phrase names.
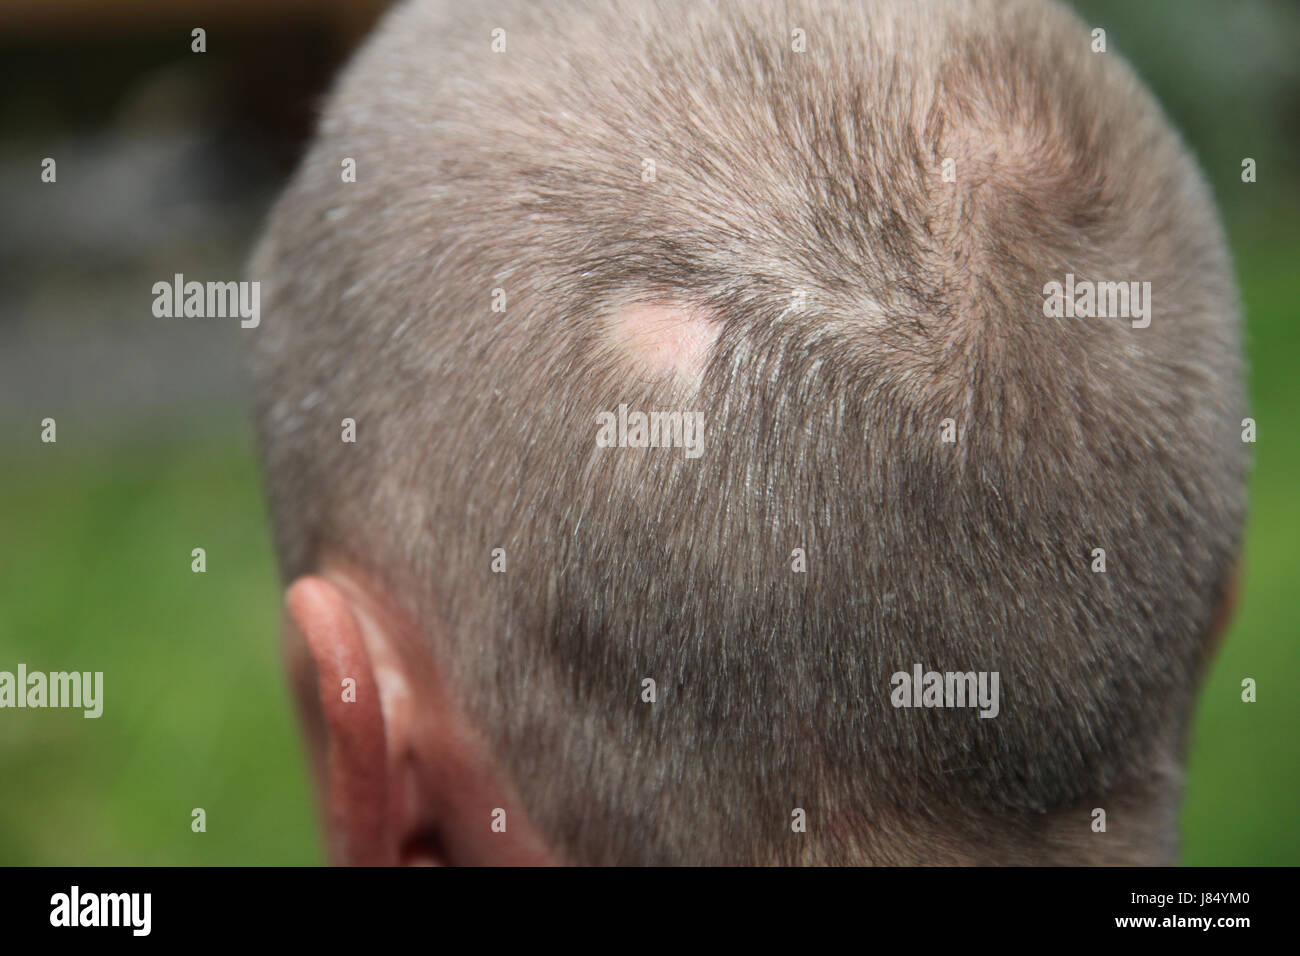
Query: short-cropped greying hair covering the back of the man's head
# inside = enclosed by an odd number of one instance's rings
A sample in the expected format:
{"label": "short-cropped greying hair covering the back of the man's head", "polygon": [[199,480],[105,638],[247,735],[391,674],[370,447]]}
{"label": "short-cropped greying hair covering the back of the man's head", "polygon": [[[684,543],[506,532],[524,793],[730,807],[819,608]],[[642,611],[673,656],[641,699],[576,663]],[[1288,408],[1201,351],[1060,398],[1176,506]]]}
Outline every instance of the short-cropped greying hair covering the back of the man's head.
{"label": "short-cropped greying hair covering the back of the man's head", "polygon": [[[1174,853],[1239,303],[1063,7],[413,0],[251,272],[285,576],[422,622],[566,860]],[[1149,282],[1149,324],[1046,315],[1067,276]],[[698,414],[698,457],[603,446],[620,406]],[[894,706],[916,663],[1000,711]]]}

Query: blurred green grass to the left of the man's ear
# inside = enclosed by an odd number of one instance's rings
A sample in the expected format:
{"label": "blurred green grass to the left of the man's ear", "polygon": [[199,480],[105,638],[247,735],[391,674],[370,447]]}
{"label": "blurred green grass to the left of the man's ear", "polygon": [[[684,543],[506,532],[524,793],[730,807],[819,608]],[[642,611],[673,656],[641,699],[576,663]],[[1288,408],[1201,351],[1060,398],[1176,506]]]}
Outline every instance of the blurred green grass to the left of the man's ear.
{"label": "blurred green grass to the left of the man's ear", "polygon": [[70,438],[3,471],[0,669],[100,670],[104,714],[3,714],[0,864],[320,862],[247,445]]}

